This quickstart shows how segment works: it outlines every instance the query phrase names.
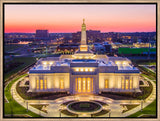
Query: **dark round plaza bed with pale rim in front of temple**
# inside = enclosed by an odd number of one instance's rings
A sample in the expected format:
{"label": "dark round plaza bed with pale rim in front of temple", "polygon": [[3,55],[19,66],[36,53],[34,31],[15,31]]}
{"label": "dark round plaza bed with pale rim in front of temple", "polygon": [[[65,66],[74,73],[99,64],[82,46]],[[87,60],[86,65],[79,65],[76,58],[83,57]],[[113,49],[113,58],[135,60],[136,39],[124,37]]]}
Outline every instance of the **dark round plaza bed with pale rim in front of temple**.
{"label": "dark round plaza bed with pale rim in front of temple", "polygon": [[75,114],[94,114],[102,110],[102,105],[91,101],[72,102],[67,105],[67,110]]}

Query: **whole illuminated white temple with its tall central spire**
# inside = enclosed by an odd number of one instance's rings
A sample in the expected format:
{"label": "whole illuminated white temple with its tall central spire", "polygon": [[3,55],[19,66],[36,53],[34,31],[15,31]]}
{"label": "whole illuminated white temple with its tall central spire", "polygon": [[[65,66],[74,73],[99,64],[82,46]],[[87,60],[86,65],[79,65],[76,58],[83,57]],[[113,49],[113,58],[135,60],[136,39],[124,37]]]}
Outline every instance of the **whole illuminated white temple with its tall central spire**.
{"label": "whole illuminated white temple with its tall central spire", "polygon": [[73,55],[38,60],[29,71],[29,91],[98,94],[139,91],[140,71],[122,57],[94,55],[86,44],[83,20],[81,45]]}

